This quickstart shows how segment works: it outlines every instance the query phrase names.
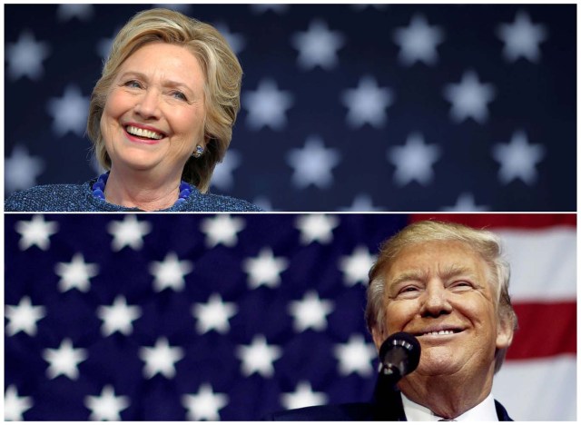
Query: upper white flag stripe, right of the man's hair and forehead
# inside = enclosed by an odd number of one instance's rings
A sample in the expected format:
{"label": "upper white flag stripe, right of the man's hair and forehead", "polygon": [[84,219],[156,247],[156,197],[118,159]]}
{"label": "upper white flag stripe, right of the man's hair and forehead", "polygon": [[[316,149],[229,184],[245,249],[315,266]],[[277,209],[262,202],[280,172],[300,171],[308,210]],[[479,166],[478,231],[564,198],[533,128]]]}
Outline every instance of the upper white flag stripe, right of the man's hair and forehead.
{"label": "upper white flag stripe, right of the man's hair and forehead", "polygon": [[495,230],[511,265],[510,294],[519,301],[576,301],[576,230]]}

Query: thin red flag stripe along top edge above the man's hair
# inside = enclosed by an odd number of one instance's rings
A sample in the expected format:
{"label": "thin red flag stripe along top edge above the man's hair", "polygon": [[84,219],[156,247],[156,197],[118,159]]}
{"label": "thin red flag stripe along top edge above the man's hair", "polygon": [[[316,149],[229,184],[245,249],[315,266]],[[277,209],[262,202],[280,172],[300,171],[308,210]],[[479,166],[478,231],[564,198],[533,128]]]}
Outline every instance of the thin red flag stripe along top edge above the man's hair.
{"label": "thin red flag stripe along top edge above the man's hair", "polygon": [[438,220],[440,222],[459,222],[476,228],[520,228],[539,229],[549,226],[576,227],[576,214],[412,214],[411,222]]}

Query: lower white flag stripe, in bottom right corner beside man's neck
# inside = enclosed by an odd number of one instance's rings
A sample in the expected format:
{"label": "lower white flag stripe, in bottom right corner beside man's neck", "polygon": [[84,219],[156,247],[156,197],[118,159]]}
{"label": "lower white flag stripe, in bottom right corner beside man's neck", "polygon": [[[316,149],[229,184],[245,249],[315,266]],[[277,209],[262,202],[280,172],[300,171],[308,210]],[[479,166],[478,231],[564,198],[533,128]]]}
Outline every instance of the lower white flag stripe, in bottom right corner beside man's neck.
{"label": "lower white flag stripe, in bottom right corner beside man's neck", "polygon": [[576,420],[576,356],[507,361],[492,393],[513,420]]}

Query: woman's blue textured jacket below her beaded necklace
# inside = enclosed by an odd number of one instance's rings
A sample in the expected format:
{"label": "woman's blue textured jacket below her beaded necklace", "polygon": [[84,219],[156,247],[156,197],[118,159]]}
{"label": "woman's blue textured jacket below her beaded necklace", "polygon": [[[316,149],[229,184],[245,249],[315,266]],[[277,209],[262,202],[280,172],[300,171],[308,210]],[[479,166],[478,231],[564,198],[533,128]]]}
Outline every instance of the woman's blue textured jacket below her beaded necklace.
{"label": "woman's blue textured jacket below her beaded necklace", "polygon": [[[46,184],[13,193],[4,204],[6,212],[136,212],[95,198],[91,187],[94,180],[83,184]],[[256,205],[230,196],[192,193],[183,203],[172,205],[163,212],[258,212]]]}

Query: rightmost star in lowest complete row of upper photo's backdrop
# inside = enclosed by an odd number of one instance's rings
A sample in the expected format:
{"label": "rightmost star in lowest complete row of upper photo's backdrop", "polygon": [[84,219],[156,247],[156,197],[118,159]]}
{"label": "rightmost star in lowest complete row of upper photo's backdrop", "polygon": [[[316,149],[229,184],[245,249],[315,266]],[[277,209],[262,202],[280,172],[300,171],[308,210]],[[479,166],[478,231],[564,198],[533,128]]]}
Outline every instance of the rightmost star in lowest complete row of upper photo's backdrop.
{"label": "rightmost star in lowest complete row of upper photo's backdrop", "polygon": [[492,156],[500,163],[498,180],[501,183],[520,179],[531,185],[537,181],[535,166],[545,157],[545,148],[541,144],[528,144],[527,133],[519,130],[513,133],[510,143],[495,144]]}

